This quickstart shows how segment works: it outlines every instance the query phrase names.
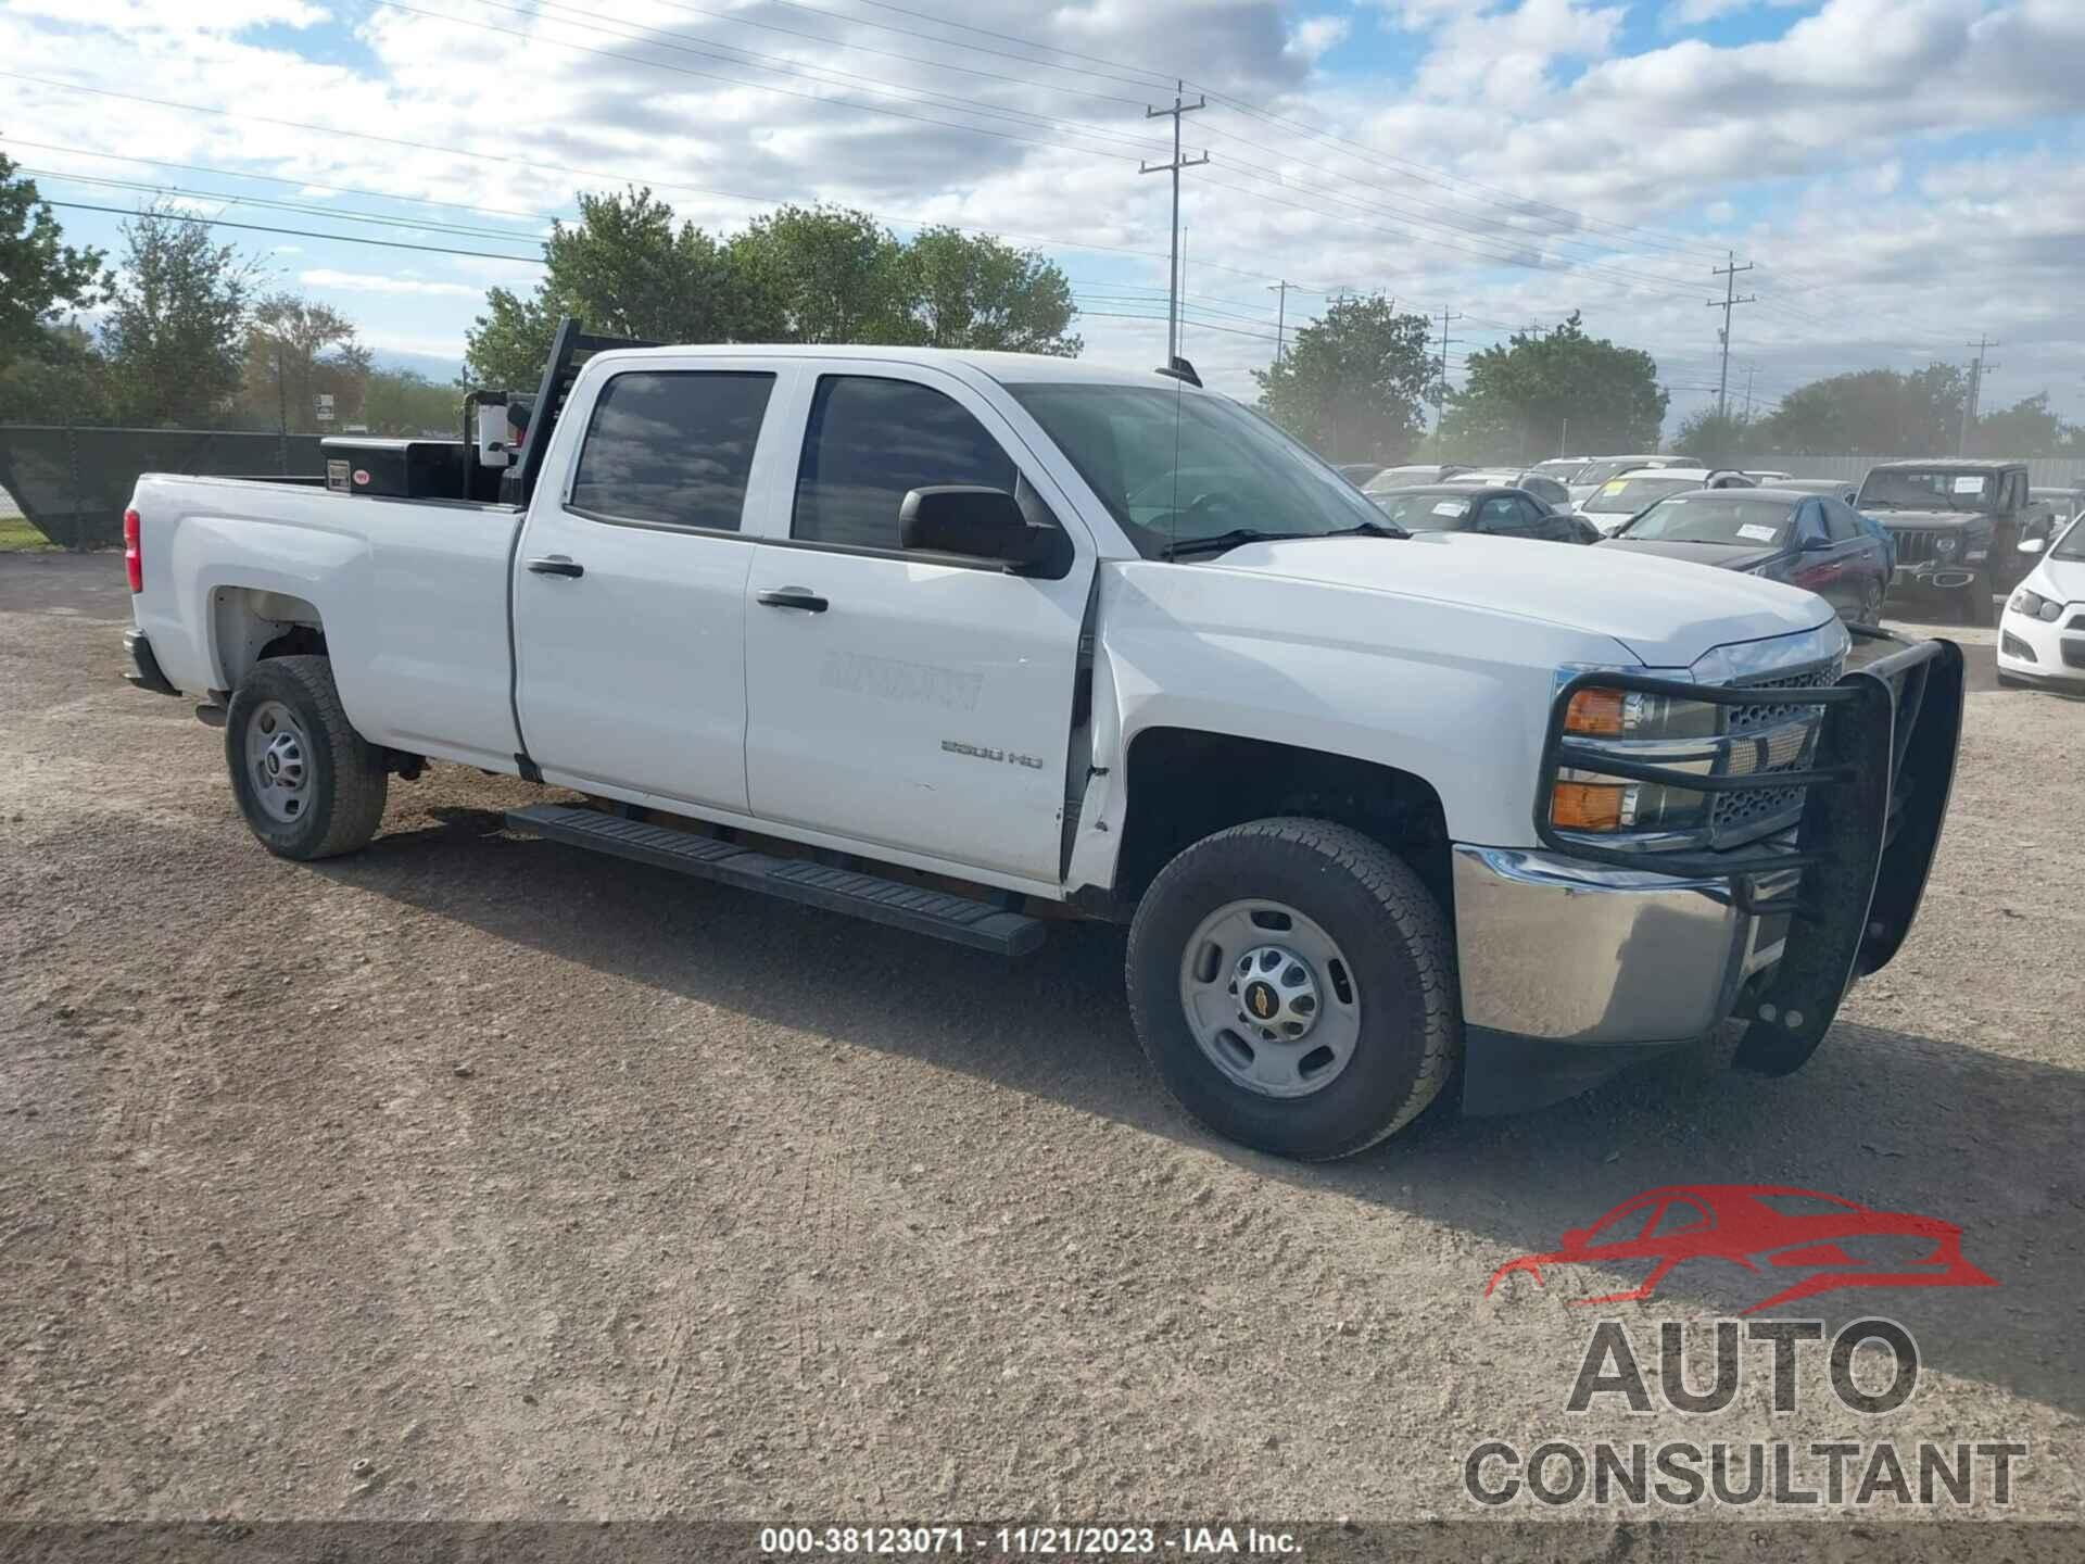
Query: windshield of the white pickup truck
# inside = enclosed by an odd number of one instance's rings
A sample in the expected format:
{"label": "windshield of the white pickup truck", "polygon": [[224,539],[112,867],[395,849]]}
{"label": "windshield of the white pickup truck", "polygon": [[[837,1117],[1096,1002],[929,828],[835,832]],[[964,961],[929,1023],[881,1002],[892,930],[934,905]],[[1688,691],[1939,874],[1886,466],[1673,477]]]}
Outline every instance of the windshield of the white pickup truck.
{"label": "windshield of the white pickup truck", "polygon": [[1145,559],[1226,532],[1318,536],[1382,513],[1268,419],[1170,386],[1007,386]]}

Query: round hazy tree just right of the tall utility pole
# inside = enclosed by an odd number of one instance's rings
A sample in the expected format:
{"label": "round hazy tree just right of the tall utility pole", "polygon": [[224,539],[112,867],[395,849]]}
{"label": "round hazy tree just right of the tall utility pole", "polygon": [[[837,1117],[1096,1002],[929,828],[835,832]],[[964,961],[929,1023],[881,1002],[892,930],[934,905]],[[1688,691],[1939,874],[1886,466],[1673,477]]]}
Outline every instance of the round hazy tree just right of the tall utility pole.
{"label": "round hazy tree just right of the tall utility pole", "polygon": [[1343,300],[1253,371],[1259,405],[1326,461],[1403,461],[1434,380],[1426,342],[1424,315],[1399,315],[1382,294]]}

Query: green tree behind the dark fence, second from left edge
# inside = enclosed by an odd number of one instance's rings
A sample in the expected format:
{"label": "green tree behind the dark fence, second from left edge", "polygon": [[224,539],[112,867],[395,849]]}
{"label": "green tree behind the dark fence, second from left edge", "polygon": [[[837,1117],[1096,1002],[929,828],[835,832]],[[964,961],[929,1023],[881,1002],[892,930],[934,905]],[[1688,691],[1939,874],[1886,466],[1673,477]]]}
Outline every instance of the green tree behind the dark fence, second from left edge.
{"label": "green tree behind the dark fence, second from left edge", "polygon": [[138,423],[208,423],[240,388],[252,261],[169,206],[123,225],[102,352],[117,415]]}

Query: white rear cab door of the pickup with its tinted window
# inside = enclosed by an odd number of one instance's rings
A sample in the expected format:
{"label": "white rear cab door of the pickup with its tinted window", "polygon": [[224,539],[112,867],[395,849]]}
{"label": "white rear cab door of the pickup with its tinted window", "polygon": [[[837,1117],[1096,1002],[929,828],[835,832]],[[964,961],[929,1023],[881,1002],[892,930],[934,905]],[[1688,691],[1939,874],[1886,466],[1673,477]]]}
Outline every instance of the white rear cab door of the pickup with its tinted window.
{"label": "white rear cab door of the pickup with its tinted window", "polygon": [[786,484],[757,361],[611,371],[515,559],[515,705],[550,782],[746,811],[746,492]]}

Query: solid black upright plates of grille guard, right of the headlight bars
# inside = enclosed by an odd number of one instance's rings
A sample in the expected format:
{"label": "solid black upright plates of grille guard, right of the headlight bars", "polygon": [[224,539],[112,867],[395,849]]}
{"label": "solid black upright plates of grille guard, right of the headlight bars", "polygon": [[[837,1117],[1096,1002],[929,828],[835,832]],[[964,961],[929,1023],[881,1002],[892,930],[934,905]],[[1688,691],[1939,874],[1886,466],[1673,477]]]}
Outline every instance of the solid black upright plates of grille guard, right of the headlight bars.
{"label": "solid black upright plates of grille guard, right of the headlight bars", "polygon": [[[1845,765],[1843,786],[1810,790],[1797,853],[1804,870],[1787,953],[1749,1003],[1739,1070],[1799,1070],[1856,976],[1879,972],[1904,945],[1939,847],[1962,732],[1962,649],[1931,642],[1849,671],[1860,694],[1826,709],[1820,765]],[[1887,755],[1889,765],[1862,763]]]}

